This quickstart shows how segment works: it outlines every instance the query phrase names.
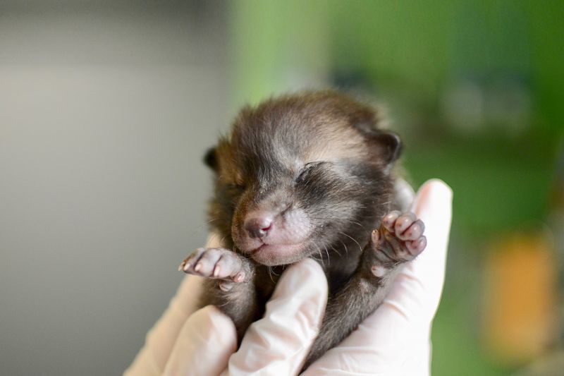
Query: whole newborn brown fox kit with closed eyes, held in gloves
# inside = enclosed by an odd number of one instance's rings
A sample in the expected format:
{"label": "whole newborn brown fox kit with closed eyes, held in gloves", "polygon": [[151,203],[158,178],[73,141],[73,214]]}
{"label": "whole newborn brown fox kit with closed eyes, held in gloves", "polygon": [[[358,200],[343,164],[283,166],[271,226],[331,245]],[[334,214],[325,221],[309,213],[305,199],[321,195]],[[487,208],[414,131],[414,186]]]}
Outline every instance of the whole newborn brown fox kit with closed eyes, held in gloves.
{"label": "whole newborn brown fox kit with closed eyes, held in gloves", "polygon": [[206,277],[201,305],[230,316],[239,341],[284,267],[314,258],[329,301],[307,366],[353,332],[424,250],[424,224],[395,195],[400,138],[378,126],[377,111],[351,97],[302,92],[243,108],[206,155],[210,223],[225,248],[199,248],[180,269]]}

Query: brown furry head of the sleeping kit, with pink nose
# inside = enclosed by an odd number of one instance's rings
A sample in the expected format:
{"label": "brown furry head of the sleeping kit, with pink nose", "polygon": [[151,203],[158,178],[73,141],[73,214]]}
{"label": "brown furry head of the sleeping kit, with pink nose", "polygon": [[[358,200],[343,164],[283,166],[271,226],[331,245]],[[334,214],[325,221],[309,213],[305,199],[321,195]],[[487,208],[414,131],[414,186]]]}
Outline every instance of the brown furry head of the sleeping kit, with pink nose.
{"label": "brown furry head of the sleeping kit, with pink nose", "polygon": [[360,115],[374,121],[372,110],[334,93],[244,109],[209,155],[216,226],[263,265],[362,243],[387,210],[399,142],[358,126]]}

